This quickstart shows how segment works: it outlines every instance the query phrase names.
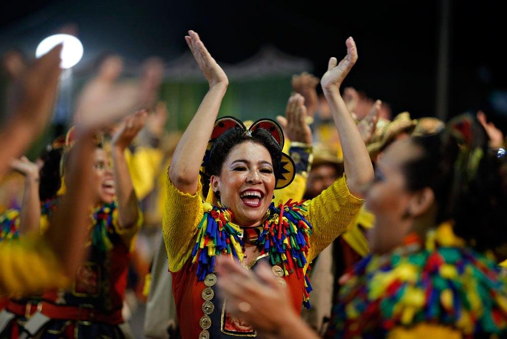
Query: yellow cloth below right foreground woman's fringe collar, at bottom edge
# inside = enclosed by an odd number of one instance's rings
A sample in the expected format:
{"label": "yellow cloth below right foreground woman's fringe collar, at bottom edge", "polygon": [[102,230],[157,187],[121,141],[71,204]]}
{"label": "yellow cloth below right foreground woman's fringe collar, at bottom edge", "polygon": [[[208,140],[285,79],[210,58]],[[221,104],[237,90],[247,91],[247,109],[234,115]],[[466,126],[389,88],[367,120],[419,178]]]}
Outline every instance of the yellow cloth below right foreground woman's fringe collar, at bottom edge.
{"label": "yellow cloth below right foreground woman's fringe collar, at bottom edge", "polygon": [[387,334],[388,339],[461,339],[461,332],[447,326],[421,323],[412,328],[394,327]]}

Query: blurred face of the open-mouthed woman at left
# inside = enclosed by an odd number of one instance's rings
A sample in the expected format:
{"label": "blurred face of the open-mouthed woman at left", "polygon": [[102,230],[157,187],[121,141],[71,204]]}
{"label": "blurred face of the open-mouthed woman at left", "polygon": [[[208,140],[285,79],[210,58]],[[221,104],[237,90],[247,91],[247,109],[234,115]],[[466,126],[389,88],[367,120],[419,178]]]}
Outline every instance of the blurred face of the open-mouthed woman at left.
{"label": "blurred face of the open-mouthed woman at left", "polygon": [[96,203],[112,203],[115,198],[115,181],[107,152],[96,148],[93,163],[93,183]]}

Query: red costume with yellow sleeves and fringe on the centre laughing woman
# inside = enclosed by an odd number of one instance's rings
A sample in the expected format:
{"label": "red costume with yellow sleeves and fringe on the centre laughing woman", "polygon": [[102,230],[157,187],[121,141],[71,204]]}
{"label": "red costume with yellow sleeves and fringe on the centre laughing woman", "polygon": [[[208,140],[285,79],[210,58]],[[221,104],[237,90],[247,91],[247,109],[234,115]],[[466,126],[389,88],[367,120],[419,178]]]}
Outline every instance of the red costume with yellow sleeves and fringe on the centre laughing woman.
{"label": "red costume with yellow sleeves and fringe on the centre laughing woman", "polygon": [[[268,209],[259,231],[261,256],[256,262],[269,260],[298,312],[302,303],[309,306],[308,264],[347,229],[362,203],[350,194],[342,177],[312,200],[302,204],[289,200]],[[182,337],[255,337],[255,329],[230,319],[214,291],[215,256],[243,258],[243,232],[230,211],[204,203],[198,193],[180,192],[170,180],[165,208],[164,240]]]}

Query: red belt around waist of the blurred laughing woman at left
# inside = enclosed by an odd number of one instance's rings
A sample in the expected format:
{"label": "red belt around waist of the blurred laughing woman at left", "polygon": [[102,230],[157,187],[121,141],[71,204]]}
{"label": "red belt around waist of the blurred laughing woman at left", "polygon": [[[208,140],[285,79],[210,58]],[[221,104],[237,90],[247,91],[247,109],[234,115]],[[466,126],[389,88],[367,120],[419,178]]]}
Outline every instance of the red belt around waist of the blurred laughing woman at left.
{"label": "red belt around waist of the blurred laughing woman at left", "polygon": [[89,306],[76,307],[42,303],[41,312],[52,319],[98,321],[112,325],[121,324],[123,322],[121,308],[110,312],[104,312]]}

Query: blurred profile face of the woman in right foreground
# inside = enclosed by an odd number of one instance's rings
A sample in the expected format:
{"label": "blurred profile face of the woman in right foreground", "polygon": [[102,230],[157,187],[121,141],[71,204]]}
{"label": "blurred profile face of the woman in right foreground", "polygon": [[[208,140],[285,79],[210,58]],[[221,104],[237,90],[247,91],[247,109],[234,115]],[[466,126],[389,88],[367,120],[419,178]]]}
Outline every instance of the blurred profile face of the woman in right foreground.
{"label": "blurred profile face of the woman in right foreground", "polygon": [[368,233],[375,253],[402,245],[412,229],[413,219],[407,215],[415,193],[406,189],[403,164],[419,152],[410,140],[395,141],[377,162],[375,179],[366,192],[366,207],[376,217],[375,227]]}

